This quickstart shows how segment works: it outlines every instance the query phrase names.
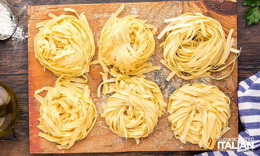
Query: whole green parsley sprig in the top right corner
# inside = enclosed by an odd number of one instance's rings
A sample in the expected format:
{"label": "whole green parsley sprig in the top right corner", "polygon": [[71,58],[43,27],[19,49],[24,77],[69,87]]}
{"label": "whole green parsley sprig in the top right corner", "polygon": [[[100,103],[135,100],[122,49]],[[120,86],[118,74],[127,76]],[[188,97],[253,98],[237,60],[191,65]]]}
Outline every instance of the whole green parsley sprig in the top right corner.
{"label": "whole green parsley sprig in the top right corner", "polygon": [[243,0],[242,5],[249,7],[244,16],[247,20],[247,25],[257,24],[260,20],[260,0]]}

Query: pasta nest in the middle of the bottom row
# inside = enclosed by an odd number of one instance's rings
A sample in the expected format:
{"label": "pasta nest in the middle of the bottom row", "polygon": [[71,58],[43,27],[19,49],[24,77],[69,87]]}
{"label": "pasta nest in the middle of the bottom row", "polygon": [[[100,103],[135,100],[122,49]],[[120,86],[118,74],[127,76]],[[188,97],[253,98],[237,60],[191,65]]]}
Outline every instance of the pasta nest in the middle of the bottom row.
{"label": "pasta nest in the middle of the bottom row", "polygon": [[103,104],[105,118],[114,133],[120,137],[147,137],[164,114],[167,104],[159,87],[144,78],[119,76],[110,84],[109,93],[115,92]]}

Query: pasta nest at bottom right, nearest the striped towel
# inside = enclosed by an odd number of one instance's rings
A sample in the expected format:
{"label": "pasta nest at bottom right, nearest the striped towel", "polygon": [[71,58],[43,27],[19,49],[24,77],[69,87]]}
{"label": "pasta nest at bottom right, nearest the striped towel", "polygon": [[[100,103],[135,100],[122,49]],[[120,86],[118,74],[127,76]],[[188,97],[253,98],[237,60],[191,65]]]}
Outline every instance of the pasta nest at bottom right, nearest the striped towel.
{"label": "pasta nest at bottom right, nearest the striped towel", "polygon": [[230,128],[230,100],[216,86],[186,84],[169,98],[168,120],[176,138],[213,149]]}

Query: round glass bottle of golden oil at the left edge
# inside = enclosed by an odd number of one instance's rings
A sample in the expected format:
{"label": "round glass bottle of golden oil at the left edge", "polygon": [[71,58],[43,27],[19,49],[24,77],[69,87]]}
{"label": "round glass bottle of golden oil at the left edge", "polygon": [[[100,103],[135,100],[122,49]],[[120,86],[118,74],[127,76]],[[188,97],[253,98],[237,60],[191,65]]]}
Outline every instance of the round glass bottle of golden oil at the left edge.
{"label": "round glass bottle of golden oil at the left edge", "polygon": [[8,85],[0,82],[0,136],[8,132],[19,115],[19,101]]}

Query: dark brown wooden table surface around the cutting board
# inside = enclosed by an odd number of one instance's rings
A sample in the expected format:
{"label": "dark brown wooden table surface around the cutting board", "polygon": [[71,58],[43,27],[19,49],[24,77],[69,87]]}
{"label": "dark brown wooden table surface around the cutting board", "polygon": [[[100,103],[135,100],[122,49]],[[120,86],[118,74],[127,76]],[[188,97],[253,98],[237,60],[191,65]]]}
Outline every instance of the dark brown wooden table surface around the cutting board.
{"label": "dark brown wooden table surface around the cutting board", "polygon": [[[18,27],[27,32],[27,6],[29,5],[55,5],[105,2],[140,2],[139,0],[7,0],[19,15]],[[158,0],[142,0],[153,2]],[[209,0],[205,0],[209,1]],[[234,0],[231,0],[234,1]],[[260,29],[259,24],[247,26],[244,14],[247,7],[241,6],[242,0],[237,1],[237,47],[242,47],[238,58],[238,82],[260,71]],[[228,1],[219,0],[212,4],[217,11],[232,13]],[[17,94],[20,103],[19,118],[9,132],[0,137],[0,155],[39,155],[30,154],[29,151],[29,121],[28,121],[28,53],[27,39],[10,37],[0,41],[0,81],[9,85]],[[241,123],[239,130],[243,130]],[[92,153],[75,155],[194,155],[202,151],[166,151],[166,152],[125,152],[125,153]],[[48,155],[48,154],[41,154]],[[51,155],[51,154],[49,154]],[[59,155],[59,154],[58,154]],[[72,155],[72,154],[64,154]]]}

